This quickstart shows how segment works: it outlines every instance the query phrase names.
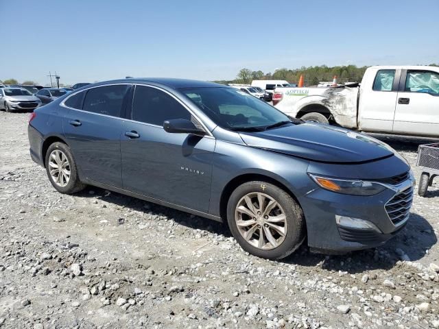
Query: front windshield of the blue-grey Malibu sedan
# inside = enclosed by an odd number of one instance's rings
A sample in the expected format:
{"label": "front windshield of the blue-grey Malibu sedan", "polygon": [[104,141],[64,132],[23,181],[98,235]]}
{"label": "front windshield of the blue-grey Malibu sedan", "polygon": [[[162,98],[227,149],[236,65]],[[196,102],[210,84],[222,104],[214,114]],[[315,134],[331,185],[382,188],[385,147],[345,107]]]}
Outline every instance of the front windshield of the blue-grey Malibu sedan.
{"label": "front windshield of the blue-grey Malibu sedan", "polygon": [[290,122],[282,112],[235,88],[181,88],[200,110],[220,127],[230,130],[264,130]]}

